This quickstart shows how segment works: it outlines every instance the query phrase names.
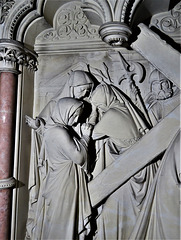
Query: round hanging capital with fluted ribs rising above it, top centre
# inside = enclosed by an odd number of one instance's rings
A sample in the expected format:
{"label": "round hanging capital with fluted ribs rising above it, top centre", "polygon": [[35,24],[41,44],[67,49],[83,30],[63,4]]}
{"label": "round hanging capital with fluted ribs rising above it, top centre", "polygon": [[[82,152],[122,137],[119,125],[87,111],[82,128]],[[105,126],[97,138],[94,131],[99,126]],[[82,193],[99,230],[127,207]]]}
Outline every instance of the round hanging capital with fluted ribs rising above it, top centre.
{"label": "round hanging capital with fluted ribs rising above it, top centre", "polygon": [[[94,0],[104,15],[99,34],[111,46],[121,46],[131,35],[130,23],[136,6],[141,0]],[[89,3],[91,1],[83,1]]]}

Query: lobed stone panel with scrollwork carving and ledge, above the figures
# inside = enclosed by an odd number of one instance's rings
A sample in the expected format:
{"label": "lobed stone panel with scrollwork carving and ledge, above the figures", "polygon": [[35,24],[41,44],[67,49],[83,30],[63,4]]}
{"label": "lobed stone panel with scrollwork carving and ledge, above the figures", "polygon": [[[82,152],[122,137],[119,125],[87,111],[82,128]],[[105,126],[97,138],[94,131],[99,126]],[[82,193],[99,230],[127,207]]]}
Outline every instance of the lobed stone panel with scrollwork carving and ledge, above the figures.
{"label": "lobed stone panel with scrollwork carving and ledge, above the figures", "polygon": [[93,46],[105,45],[98,33],[99,26],[90,23],[81,6],[78,2],[61,6],[55,13],[53,28],[46,29],[37,36],[35,51],[79,51],[82,46],[93,49]]}

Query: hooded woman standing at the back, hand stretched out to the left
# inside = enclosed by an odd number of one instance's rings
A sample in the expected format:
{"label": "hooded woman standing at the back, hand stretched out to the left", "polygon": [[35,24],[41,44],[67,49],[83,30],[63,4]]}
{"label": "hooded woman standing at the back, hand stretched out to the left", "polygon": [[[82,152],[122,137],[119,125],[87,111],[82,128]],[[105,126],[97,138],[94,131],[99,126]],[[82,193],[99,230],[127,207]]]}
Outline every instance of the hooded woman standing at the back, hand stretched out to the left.
{"label": "hooded woman standing at the back, hand stretched out to the left", "polygon": [[[26,123],[29,127],[34,129],[32,132],[32,152],[30,161],[30,177],[29,177],[29,213],[27,221],[27,236],[30,235],[32,229],[32,222],[34,219],[34,213],[37,208],[37,199],[41,184],[44,180],[46,172],[42,175],[41,171],[44,170],[42,162],[40,159],[40,149],[41,155],[43,155],[42,146],[42,134],[44,131],[44,126],[48,121],[49,116],[52,114],[56,103],[59,99],[63,97],[73,97],[77,99],[83,99],[84,105],[86,105],[87,114],[91,111],[91,105],[89,104],[89,98],[94,89],[94,82],[92,76],[85,71],[76,70],[71,72],[70,79],[67,81],[65,87],[60,90],[55,97],[53,97],[48,104],[44,107],[41,113],[33,119],[26,116]],[[80,126],[77,127],[79,135],[81,135]]]}

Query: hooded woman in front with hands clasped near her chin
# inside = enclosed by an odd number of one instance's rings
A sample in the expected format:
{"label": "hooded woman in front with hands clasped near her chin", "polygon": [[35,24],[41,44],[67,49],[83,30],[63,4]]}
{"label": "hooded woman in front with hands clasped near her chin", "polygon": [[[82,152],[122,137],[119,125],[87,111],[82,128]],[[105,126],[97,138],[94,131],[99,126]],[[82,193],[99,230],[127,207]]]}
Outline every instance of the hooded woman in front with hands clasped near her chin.
{"label": "hooded woman in front with hands clasped near her chin", "polygon": [[91,206],[84,167],[91,130],[84,126],[81,139],[72,133],[82,108],[82,102],[62,98],[47,121],[43,143],[48,172],[38,199],[44,206],[37,209],[44,211],[44,218],[37,214],[33,239],[84,239],[88,231]]}

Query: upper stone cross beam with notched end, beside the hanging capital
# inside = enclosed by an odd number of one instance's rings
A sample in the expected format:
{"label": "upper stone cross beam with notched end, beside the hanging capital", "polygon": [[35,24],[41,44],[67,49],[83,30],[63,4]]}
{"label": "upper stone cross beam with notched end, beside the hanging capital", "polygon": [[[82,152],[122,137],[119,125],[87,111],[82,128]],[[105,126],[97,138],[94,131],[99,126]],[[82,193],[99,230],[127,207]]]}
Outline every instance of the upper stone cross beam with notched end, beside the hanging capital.
{"label": "upper stone cross beam with notched end, beside the hanging capital", "polygon": [[180,88],[180,53],[143,23],[138,26],[141,33],[131,47]]}

